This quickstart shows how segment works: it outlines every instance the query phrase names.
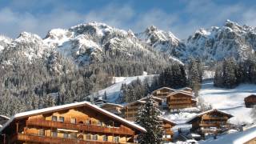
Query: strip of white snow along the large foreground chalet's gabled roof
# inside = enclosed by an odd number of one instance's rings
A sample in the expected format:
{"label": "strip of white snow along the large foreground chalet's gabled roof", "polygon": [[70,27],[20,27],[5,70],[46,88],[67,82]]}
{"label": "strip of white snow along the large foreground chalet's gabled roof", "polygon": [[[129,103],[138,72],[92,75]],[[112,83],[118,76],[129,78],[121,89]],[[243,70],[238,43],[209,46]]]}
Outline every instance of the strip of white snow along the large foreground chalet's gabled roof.
{"label": "strip of white snow along the large foreground chalet's gabled roof", "polygon": [[46,113],[46,112],[54,112],[54,111],[58,111],[58,110],[62,110],[62,109],[67,109],[67,108],[72,108],[72,107],[78,107],[78,106],[89,106],[91,108],[94,108],[94,110],[97,110],[99,112],[102,112],[103,114],[106,114],[108,116],[110,116],[111,118],[115,118],[121,122],[126,123],[128,126],[132,126],[137,130],[146,132],[146,130],[142,127],[142,126],[138,126],[137,124],[134,124],[133,122],[127,121],[124,118],[121,118],[115,114],[110,113],[107,110],[103,110],[102,108],[91,104],[90,102],[75,102],[75,103],[70,103],[70,104],[66,104],[66,105],[62,105],[62,106],[53,106],[53,107],[48,107],[48,108],[44,108],[44,109],[40,109],[40,110],[30,110],[30,111],[26,111],[23,113],[18,113],[15,114],[14,116],[12,116],[5,125],[2,126],[2,128],[0,128],[0,133],[2,132],[2,130],[4,130],[7,126],[10,125],[11,122],[14,121],[14,119],[18,119],[18,118],[26,118],[28,116],[32,116],[32,115],[36,115],[36,114],[42,114],[42,113]]}

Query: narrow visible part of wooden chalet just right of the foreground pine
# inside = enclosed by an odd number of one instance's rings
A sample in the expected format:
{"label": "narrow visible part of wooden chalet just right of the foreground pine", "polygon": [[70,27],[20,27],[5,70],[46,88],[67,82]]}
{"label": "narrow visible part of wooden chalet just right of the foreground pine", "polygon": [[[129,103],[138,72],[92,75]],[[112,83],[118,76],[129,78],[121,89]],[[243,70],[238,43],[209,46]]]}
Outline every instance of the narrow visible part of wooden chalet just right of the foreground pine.
{"label": "narrow visible part of wooden chalet just right of the foreground pine", "polygon": [[177,124],[175,122],[170,121],[167,118],[162,118],[163,122],[163,141],[164,142],[172,142],[174,138],[174,131],[172,128],[176,126]]}

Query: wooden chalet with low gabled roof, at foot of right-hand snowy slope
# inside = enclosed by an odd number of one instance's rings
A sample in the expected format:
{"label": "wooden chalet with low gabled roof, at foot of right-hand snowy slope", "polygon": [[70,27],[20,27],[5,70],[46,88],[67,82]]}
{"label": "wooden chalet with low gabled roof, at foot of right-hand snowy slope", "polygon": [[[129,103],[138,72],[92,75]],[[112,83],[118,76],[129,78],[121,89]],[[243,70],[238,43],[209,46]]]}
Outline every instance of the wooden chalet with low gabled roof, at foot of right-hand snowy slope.
{"label": "wooden chalet with low gabled roof, at foot of right-hand snowy slope", "polygon": [[216,134],[228,129],[227,120],[231,117],[233,115],[214,109],[197,114],[190,118],[187,123],[192,124],[191,131],[198,134]]}

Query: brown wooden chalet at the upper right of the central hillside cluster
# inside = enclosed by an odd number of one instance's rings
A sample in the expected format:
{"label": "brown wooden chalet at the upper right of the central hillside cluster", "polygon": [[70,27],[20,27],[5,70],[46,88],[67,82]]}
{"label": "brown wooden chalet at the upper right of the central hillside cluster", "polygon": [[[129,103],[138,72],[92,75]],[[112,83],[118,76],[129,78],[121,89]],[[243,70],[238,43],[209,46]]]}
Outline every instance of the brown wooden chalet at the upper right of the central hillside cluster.
{"label": "brown wooden chalet at the upper right of the central hillside cluster", "polygon": [[168,94],[166,101],[170,110],[178,110],[196,106],[196,101],[192,98],[194,98],[192,94],[177,90]]}

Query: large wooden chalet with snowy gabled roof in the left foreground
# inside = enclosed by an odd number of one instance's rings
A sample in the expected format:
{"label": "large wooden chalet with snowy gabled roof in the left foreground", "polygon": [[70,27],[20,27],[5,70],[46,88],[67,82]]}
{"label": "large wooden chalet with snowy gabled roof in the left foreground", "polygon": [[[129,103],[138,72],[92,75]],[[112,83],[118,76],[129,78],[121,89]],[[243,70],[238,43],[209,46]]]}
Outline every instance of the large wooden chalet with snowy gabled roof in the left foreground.
{"label": "large wooden chalet with snowy gabled roof in the left foreground", "polygon": [[133,143],[144,128],[90,102],[15,114],[0,129],[0,143]]}

